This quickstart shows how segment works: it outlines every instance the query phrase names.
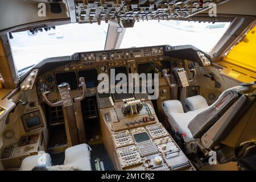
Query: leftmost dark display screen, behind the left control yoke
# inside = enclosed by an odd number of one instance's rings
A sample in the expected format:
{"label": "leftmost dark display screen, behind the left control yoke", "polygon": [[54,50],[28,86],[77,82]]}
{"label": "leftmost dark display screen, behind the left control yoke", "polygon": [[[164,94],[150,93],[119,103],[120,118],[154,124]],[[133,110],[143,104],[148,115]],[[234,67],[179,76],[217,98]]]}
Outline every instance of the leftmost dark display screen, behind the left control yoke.
{"label": "leftmost dark display screen, behind the left control yoke", "polygon": [[76,72],[56,73],[56,82],[57,85],[67,82],[71,90],[78,89]]}

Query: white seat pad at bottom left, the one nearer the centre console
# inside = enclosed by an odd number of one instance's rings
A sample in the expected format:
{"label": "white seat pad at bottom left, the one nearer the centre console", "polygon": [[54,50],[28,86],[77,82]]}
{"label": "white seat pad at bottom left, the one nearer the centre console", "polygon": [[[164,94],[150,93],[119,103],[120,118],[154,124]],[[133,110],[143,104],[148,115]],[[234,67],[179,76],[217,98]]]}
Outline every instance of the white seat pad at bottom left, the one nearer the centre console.
{"label": "white seat pad at bottom left, the one nearer the centre console", "polygon": [[82,171],[92,171],[90,166],[91,148],[83,143],[65,150],[64,165],[80,168]]}

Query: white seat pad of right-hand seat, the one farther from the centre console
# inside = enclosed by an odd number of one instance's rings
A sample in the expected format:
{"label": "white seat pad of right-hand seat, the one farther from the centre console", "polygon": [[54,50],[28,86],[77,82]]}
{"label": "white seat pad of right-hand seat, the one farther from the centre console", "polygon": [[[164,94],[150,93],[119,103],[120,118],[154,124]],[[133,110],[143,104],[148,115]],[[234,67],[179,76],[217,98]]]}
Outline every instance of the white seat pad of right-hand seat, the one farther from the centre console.
{"label": "white seat pad of right-hand seat, the one farther from the centre console", "polygon": [[197,109],[205,109],[208,107],[208,104],[205,98],[199,95],[186,98],[185,107],[190,111],[194,111]]}

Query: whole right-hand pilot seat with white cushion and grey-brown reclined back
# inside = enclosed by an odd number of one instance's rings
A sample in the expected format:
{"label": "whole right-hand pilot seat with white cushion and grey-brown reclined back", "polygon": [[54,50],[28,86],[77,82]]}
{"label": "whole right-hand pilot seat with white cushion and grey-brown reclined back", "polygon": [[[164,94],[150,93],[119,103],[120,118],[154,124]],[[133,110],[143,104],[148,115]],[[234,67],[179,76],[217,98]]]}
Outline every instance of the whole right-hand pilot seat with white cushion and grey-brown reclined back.
{"label": "whole right-hand pilot seat with white cushion and grey-brown reclined back", "polygon": [[[202,96],[189,97],[185,100],[187,113],[177,100],[164,101],[162,106],[171,127],[183,137],[188,151],[190,148],[197,152],[195,145],[208,151],[217,147],[220,160],[227,162],[238,158],[235,150],[243,156],[255,149],[255,88],[256,81],[240,84],[225,90],[210,106]],[[249,147],[250,152],[246,149]]]}

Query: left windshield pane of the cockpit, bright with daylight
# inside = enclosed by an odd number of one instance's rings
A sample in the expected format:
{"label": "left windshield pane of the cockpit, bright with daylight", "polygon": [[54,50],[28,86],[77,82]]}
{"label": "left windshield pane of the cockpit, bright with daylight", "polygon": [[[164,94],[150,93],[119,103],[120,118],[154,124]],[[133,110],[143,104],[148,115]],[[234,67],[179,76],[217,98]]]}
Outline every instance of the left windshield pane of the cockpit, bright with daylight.
{"label": "left windshield pane of the cockpit, bright with daylight", "polygon": [[13,33],[11,48],[18,70],[30,67],[43,59],[70,56],[75,52],[102,50],[105,47],[108,24],[65,24],[55,30]]}

